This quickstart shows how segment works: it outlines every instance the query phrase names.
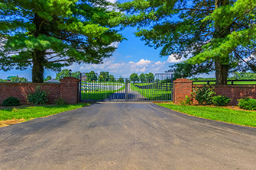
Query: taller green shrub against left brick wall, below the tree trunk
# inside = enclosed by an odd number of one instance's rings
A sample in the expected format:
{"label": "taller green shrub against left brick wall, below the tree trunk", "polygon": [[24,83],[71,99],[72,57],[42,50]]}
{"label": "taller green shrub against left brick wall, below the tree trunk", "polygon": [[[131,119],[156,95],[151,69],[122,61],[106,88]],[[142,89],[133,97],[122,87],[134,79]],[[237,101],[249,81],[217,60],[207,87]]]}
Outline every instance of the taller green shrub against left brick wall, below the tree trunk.
{"label": "taller green shrub against left brick wall, below the tree trunk", "polygon": [[47,104],[47,92],[41,91],[40,86],[37,86],[34,93],[28,95],[27,100],[33,104]]}

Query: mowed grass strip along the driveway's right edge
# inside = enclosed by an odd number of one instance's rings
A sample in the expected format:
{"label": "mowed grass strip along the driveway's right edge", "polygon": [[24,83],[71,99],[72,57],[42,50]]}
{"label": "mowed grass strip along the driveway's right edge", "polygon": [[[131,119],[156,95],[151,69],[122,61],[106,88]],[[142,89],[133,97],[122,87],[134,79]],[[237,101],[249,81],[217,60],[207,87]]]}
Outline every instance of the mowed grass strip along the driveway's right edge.
{"label": "mowed grass strip along the driveway's right edge", "polygon": [[175,104],[157,105],[170,108],[173,111],[180,111],[184,114],[190,114],[196,117],[203,117],[211,120],[219,120],[249,127],[256,127],[255,111],[235,111],[223,107],[181,106]]}

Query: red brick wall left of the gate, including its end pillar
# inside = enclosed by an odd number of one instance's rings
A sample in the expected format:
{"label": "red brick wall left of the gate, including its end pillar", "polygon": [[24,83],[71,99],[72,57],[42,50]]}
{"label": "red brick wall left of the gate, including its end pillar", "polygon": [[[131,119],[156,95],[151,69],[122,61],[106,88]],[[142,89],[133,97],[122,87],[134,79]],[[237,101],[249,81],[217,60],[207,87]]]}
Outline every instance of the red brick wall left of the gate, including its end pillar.
{"label": "red brick wall left of the gate, including its end pillar", "polygon": [[11,96],[18,98],[21,104],[28,104],[26,98],[35,91],[38,85],[41,86],[41,90],[49,92],[47,95],[49,104],[54,104],[59,97],[62,97],[67,104],[76,104],[79,101],[78,83],[79,80],[72,77],[60,80],[60,84],[0,83],[0,104]]}

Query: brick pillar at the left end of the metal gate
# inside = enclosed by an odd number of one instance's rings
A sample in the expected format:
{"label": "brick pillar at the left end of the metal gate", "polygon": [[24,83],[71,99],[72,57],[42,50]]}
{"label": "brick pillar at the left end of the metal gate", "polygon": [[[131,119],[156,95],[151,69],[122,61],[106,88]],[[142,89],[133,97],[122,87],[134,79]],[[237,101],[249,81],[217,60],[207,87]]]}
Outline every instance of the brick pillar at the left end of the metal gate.
{"label": "brick pillar at the left end of the metal gate", "polygon": [[75,77],[64,77],[60,79],[60,97],[67,104],[77,104],[79,102],[79,79]]}

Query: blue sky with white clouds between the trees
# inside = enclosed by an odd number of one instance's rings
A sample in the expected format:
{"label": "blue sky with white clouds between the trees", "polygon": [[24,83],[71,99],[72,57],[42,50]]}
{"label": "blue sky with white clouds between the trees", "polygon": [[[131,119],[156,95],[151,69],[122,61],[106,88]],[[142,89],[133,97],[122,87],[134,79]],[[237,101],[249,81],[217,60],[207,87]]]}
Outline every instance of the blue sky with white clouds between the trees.
{"label": "blue sky with white clouds between the trees", "polygon": [[[109,0],[109,2],[116,2],[116,0]],[[125,0],[119,2],[125,2]],[[160,58],[160,49],[155,50],[154,48],[145,46],[144,42],[141,41],[139,37],[134,36],[135,31],[135,27],[128,27],[122,30],[121,34],[128,40],[113,44],[118,47],[118,49],[112,57],[104,59],[103,64],[73,65],[63,69],[72,69],[73,72],[90,72],[93,70],[99,73],[100,71],[107,71],[115,75],[115,77],[129,77],[133,72],[137,72],[138,74],[142,72],[165,72],[168,70],[168,66],[180,62],[174,59],[173,56]],[[57,72],[45,70],[44,76],[47,77],[47,75],[51,75],[55,78],[56,73]],[[0,79],[6,79],[8,75],[18,75],[19,77],[25,77],[29,80],[32,78],[31,68],[24,71],[16,69],[8,72],[0,71]]]}

